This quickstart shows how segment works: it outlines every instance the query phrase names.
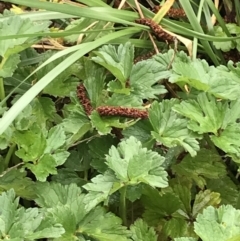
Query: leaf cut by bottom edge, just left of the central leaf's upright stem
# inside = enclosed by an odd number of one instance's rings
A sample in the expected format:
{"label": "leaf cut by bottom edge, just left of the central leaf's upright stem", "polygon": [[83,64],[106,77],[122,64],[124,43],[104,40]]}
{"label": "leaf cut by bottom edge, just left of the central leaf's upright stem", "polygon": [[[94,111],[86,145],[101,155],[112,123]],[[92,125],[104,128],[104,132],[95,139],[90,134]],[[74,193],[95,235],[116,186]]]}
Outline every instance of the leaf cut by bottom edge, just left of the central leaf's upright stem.
{"label": "leaf cut by bottom edge, just left of the central leaf's upright stem", "polygon": [[121,222],[119,217],[106,213],[103,207],[96,207],[79,223],[77,232],[99,241],[128,241],[130,234]]}

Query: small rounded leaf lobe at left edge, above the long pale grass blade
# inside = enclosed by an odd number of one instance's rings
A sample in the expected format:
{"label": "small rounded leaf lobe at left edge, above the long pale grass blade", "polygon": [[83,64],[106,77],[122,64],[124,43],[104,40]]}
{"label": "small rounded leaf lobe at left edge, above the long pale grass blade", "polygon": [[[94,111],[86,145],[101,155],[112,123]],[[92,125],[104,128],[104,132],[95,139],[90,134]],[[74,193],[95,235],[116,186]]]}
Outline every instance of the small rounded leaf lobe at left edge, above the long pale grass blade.
{"label": "small rounded leaf lobe at left edge, above the long pale grass blade", "polygon": [[[1,42],[0,42],[1,43]],[[0,76],[2,78],[11,77],[16,70],[18,64],[20,63],[20,56],[18,54],[13,54],[6,61],[2,60]]]}

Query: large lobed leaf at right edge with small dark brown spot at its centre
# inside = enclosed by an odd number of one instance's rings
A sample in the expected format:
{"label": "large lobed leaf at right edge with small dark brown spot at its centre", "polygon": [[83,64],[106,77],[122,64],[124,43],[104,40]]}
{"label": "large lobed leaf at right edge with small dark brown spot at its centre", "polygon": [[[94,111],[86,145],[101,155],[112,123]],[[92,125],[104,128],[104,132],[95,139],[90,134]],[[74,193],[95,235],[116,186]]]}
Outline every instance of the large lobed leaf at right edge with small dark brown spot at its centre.
{"label": "large lobed leaf at right edge with small dark brown spot at its centre", "polygon": [[240,125],[236,123],[240,117],[240,101],[231,103],[217,102],[213,96],[199,94],[196,100],[184,101],[173,109],[188,117],[188,127],[198,133],[213,133],[210,135],[213,143],[239,162],[240,146],[238,135]]}

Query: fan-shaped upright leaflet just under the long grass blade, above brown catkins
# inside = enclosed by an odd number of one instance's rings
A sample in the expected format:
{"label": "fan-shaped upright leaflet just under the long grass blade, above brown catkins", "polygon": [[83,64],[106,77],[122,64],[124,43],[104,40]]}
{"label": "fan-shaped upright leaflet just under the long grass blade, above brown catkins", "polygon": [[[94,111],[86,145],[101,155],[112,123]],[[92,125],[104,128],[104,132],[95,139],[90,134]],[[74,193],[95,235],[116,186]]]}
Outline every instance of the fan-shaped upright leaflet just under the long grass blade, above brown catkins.
{"label": "fan-shaped upright leaflet just under the long grass blade, above brown catkins", "polygon": [[130,42],[125,45],[121,44],[117,50],[115,46],[105,45],[95,54],[97,57],[93,57],[92,60],[109,70],[121,82],[122,86],[125,86],[133,66],[133,45]]}

